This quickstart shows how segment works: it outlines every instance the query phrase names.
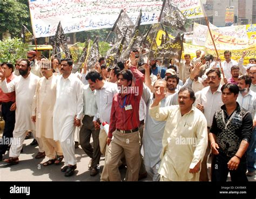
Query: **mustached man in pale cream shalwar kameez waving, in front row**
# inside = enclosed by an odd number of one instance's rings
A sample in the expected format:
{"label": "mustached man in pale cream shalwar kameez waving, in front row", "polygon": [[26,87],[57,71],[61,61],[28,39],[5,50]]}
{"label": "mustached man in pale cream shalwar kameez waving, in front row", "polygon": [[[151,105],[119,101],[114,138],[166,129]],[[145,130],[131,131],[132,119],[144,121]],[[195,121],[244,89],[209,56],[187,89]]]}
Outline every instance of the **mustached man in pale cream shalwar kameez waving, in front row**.
{"label": "mustached man in pale cream shalwar kameez waving, in front row", "polygon": [[207,147],[207,121],[202,112],[193,107],[194,92],[181,88],[179,106],[160,107],[165,87],[159,87],[149,114],[158,121],[166,121],[163,135],[160,181],[199,181],[199,170]]}

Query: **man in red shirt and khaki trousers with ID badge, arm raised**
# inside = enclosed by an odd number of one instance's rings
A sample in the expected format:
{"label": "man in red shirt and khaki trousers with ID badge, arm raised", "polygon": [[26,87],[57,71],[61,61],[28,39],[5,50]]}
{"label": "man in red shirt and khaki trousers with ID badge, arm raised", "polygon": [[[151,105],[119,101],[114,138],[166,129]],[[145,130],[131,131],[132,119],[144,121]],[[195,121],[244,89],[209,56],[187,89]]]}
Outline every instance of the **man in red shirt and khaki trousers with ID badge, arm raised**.
{"label": "man in red shirt and khaki trousers with ID badge, arm raised", "polygon": [[[128,172],[126,181],[138,181],[140,168],[139,102],[143,92],[144,76],[135,67],[137,60],[134,52],[131,52],[126,65],[130,70],[123,70],[118,74],[117,85],[120,92],[113,97],[110,114],[107,138],[109,150],[106,161],[110,181],[121,181],[118,162],[123,152]],[[132,86],[133,77],[135,84]],[[112,133],[114,138],[111,141]]]}

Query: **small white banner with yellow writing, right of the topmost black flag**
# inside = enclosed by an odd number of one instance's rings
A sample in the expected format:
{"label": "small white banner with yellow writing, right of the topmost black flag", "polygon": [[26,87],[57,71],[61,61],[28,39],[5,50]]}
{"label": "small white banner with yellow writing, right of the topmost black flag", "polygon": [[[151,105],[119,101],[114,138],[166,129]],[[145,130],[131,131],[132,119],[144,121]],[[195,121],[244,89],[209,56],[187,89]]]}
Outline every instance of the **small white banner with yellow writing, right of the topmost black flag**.
{"label": "small white banner with yellow writing, right of the topmost black flag", "polygon": [[204,17],[200,0],[169,0],[187,19]]}

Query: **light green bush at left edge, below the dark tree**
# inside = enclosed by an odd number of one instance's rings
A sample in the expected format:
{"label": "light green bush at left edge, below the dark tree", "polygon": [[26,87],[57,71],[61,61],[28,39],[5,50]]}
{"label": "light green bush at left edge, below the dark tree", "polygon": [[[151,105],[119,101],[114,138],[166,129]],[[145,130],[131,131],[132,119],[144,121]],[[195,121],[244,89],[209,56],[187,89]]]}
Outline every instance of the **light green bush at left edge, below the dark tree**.
{"label": "light green bush at left edge, below the dark tree", "polygon": [[21,39],[0,40],[0,62],[15,63],[18,58],[26,58],[28,46],[22,43]]}

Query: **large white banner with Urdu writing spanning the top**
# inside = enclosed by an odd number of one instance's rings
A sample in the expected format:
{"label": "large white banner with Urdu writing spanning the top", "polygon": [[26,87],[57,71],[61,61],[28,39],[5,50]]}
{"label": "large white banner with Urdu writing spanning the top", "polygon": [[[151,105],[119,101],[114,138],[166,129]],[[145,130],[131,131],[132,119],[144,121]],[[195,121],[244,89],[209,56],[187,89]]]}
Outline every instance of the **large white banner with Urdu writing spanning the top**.
{"label": "large white banner with Urdu writing spanning the top", "polygon": [[133,23],[142,10],[142,23],[157,23],[163,2],[160,0],[29,0],[36,38],[56,33],[59,21],[64,33],[112,28],[123,9]]}

